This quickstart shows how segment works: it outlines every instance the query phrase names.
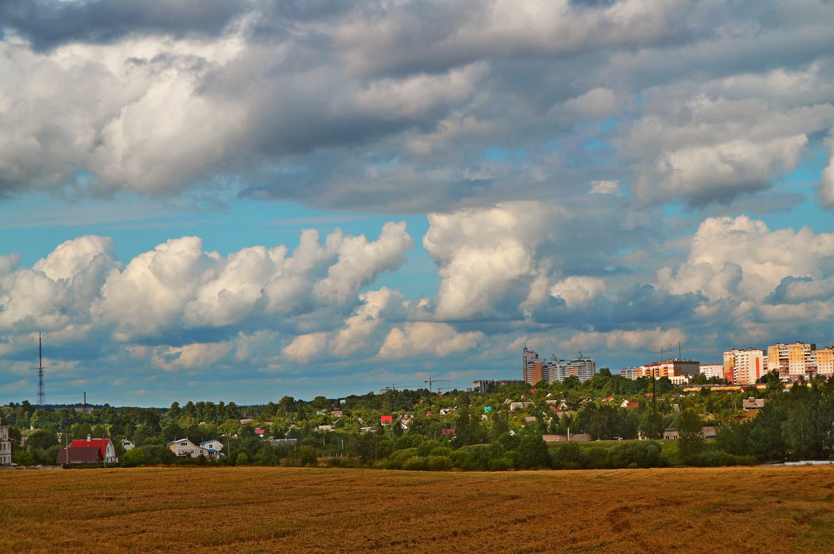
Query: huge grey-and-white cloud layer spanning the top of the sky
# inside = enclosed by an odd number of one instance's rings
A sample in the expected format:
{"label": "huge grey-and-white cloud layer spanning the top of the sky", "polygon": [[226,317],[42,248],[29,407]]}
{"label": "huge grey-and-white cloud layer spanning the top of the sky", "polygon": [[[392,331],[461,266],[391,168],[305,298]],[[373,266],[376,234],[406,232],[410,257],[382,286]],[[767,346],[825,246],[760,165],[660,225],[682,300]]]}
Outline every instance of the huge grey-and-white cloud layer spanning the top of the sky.
{"label": "huge grey-and-white cloud layer spanning the top of the sky", "polygon": [[0,194],[445,211],[565,202],[601,165],[701,206],[834,117],[821,2],[198,3],[4,2]]}

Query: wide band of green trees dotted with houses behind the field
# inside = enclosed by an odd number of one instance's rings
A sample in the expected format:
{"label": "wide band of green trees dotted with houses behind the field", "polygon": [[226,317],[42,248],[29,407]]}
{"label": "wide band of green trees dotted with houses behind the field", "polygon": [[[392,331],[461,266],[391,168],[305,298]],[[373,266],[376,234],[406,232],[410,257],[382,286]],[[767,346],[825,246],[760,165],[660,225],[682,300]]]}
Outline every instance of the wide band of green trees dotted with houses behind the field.
{"label": "wide band of green trees dotted with houses behind the field", "polygon": [[[831,457],[834,382],[787,388],[775,376],[768,377],[763,391],[704,387],[683,392],[666,378],[632,381],[602,369],[588,382],[571,377],[550,386],[507,384],[485,393],[392,390],[338,400],[284,396],[262,406],[174,402],[168,408],[105,406],[92,413],[23,402],[0,407],[0,413],[15,439],[13,461],[22,465],[53,464],[63,444],[87,435],[110,437],[118,448],[121,439],[133,442],[132,451],[120,452],[126,466],[328,463],[495,471]],[[765,398],[765,406],[742,410],[743,400],[751,395]],[[383,423],[382,416],[390,418]],[[705,440],[704,426],[716,428],[714,440]],[[677,430],[680,439],[674,445],[659,442],[666,429]],[[569,432],[586,433],[592,442],[549,446],[542,438]],[[26,437],[23,446],[21,437]],[[195,443],[218,439],[224,444],[222,457],[175,459],[167,445],[185,437]],[[268,437],[297,442],[274,446],[264,440]],[[637,438],[647,440],[633,440]]]}

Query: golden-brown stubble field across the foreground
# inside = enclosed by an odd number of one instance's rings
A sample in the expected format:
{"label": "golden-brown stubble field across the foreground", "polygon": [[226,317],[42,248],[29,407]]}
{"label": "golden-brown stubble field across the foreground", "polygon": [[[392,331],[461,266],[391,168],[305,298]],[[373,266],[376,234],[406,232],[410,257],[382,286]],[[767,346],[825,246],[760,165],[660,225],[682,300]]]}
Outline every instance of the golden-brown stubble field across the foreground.
{"label": "golden-brown stubble field across the foreground", "polygon": [[834,467],[3,471],[0,552],[834,552]]}

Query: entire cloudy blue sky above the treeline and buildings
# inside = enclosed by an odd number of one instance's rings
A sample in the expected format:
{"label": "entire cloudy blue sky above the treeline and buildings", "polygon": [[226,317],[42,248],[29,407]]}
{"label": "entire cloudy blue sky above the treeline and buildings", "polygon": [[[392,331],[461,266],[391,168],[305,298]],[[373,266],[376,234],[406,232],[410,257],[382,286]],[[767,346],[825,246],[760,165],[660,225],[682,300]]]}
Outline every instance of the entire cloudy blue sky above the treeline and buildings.
{"label": "entire cloudy blue sky above the treeline and buildings", "polygon": [[[0,402],[834,343],[834,2],[0,2]],[[439,383],[440,384],[440,383]],[[436,387],[436,385],[435,385]]]}

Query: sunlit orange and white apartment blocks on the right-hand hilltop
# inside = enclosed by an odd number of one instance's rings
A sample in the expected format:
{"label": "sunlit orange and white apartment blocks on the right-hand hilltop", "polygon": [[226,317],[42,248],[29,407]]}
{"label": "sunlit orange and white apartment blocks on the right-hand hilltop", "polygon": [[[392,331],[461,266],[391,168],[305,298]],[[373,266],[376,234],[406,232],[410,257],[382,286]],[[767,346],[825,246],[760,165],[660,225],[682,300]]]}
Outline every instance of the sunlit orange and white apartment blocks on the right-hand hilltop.
{"label": "sunlit orange and white apartment blocks on the right-hand hilltop", "polygon": [[813,342],[791,342],[761,348],[731,348],[724,352],[723,363],[703,364],[674,358],[620,370],[622,377],[669,377],[676,385],[685,385],[691,377],[718,377],[731,385],[754,385],[767,373],[776,371],[782,382],[808,380],[815,375],[834,375],[834,347],[816,349]]}

